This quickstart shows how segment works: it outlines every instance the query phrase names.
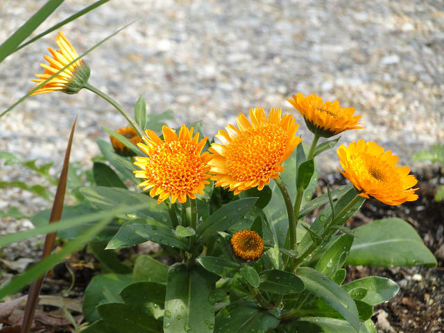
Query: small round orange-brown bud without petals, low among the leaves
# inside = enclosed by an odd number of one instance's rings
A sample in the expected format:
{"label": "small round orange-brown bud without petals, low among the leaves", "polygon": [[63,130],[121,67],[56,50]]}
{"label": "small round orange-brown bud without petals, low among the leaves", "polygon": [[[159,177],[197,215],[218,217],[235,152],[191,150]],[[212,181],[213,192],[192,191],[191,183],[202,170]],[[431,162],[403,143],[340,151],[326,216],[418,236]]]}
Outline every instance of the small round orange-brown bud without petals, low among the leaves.
{"label": "small round orange-brown bud without petals, low among the leaves", "polygon": [[231,237],[234,255],[243,260],[259,259],[264,252],[264,240],[252,230],[238,231]]}

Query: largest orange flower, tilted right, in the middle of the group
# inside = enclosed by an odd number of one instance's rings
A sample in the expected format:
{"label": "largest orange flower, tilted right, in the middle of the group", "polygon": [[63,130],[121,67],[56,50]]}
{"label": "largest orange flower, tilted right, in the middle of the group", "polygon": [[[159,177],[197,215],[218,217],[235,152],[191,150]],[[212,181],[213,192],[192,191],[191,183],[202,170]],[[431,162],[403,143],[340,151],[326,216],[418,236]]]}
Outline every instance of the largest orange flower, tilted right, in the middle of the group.
{"label": "largest orange flower, tilted right, in the middle of the group", "polygon": [[256,187],[261,190],[271,178],[284,170],[282,162],[302,141],[296,137],[299,125],[291,114],[281,117],[281,109],[271,109],[268,119],[263,108],[250,110],[250,121],[243,113],[236,128],[228,125],[216,135],[221,144],[212,144],[212,180],[216,187],[229,187],[234,194]]}

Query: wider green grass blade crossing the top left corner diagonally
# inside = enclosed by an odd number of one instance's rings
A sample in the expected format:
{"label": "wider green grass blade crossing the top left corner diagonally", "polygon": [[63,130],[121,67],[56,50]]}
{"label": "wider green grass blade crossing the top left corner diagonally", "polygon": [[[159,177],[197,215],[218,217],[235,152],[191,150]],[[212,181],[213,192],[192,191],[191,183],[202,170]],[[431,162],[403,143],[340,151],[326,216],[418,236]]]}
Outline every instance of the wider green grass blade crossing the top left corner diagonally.
{"label": "wider green grass blade crossing the top left corner diagonally", "polygon": [[62,4],[63,0],[49,0],[38,10],[31,19],[28,19],[26,23],[13,33],[8,40],[0,45],[0,62],[2,62],[7,56],[14,53],[15,49],[26,37],[31,35],[33,31],[44,22],[44,20],[52,14],[58,6]]}

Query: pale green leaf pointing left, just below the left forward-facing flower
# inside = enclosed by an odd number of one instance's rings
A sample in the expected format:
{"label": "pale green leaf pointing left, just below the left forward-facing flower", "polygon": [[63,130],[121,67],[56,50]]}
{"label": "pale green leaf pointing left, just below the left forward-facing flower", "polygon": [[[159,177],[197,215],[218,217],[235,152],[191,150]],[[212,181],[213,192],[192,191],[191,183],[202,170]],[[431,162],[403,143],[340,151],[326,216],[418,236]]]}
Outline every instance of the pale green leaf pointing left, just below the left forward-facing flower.
{"label": "pale green leaf pointing left, just below the left forward-facing flower", "polygon": [[158,205],[157,200],[128,189],[118,187],[82,187],[80,193],[99,210],[110,210],[119,205],[133,206],[144,203],[145,207],[133,210],[133,214],[141,219],[153,219],[171,227],[167,205]]}

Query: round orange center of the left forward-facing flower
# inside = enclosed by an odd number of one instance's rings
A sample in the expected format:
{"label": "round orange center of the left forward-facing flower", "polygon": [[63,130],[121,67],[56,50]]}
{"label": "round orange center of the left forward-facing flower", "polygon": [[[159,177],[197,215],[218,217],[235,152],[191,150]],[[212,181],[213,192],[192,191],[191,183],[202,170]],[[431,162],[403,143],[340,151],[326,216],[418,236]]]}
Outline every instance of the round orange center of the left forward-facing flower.
{"label": "round orange center of the left forward-facing flower", "polygon": [[198,187],[204,163],[194,144],[162,142],[150,156],[146,170],[155,185],[171,194],[184,194]]}

